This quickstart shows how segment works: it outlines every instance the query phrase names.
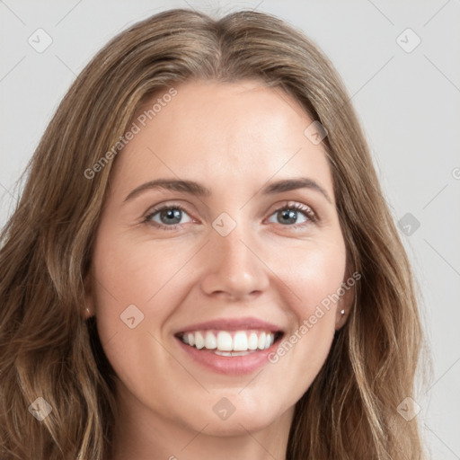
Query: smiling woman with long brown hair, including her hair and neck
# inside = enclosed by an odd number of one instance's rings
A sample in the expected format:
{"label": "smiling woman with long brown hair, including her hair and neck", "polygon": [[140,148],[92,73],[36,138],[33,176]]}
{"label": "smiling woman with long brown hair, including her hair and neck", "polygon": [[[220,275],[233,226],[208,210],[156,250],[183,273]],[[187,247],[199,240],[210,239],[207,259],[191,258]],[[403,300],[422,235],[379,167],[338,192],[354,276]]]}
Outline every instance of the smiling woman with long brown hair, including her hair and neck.
{"label": "smiling woman with long brown hair, including her hair and neck", "polygon": [[411,268],[339,75],[285,22],[120,33],[2,242],[2,458],[423,457]]}

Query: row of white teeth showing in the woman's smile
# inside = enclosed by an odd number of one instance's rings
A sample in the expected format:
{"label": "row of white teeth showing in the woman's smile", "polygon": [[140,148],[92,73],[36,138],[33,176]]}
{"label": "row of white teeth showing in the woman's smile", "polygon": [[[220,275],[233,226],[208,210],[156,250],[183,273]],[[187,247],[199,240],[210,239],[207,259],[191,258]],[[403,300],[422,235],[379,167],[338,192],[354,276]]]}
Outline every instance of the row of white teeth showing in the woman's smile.
{"label": "row of white teeth showing in the woman's smile", "polygon": [[268,349],[275,335],[268,331],[196,331],[182,334],[181,341],[197,349],[214,349],[221,356],[244,356],[255,349]]}

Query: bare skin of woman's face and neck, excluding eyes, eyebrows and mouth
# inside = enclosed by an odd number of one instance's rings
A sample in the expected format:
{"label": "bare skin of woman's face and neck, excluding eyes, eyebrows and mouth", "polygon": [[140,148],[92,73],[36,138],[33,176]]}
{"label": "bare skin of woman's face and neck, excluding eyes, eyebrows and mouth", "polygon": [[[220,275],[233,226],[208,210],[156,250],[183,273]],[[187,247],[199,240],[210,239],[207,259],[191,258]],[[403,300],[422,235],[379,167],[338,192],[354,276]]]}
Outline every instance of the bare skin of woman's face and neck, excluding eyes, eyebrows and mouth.
{"label": "bare skin of woman's face and neck, excluding eyes, eyebrows and mouth", "polygon": [[[111,460],[285,458],[295,404],[346,321],[349,295],[323,308],[279,362],[252,375],[200,367],[184,357],[173,332],[255,316],[278,324],[287,338],[341,287],[346,248],[327,158],[304,135],[313,119],[280,89],[257,81],[174,87],[172,102],[116,158],[87,279],[88,315],[95,314],[119,377]],[[299,176],[320,184],[332,202],[306,188],[258,193],[267,182]],[[199,181],[211,196],[151,189],[124,202],[158,178]],[[290,203],[310,207],[317,221],[297,211],[294,223],[284,223],[277,209]],[[186,208],[175,229],[143,223],[158,204]],[[226,236],[212,226],[223,212],[236,223]],[[177,222],[168,218],[151,220]],[[144,314],[134,329],[120,321],[132,304]],[[213,411],[223,397],[235,408],[227,420]]]}

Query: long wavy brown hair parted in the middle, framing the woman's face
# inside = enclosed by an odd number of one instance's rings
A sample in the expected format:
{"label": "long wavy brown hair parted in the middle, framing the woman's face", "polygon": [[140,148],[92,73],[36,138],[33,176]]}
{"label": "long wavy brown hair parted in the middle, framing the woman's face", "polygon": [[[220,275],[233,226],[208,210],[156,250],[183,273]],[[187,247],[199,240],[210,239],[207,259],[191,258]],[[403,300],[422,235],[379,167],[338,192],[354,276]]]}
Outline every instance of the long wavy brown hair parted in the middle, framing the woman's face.
{"label": "long wavy brown hair parted in the middle, framing the woman's face", "polygon": [[[397,411],[416,397],[425,343],[420,299],[340,76],[312,40],[270,14],[217,20],[175,9],[121,32],[84,68],[41,138],[4,226],[2,459],[110,458],[113,370],[93,320],[84,321],[84,279],[116,161],[107,152],[148,97],[191,78],[260,80],[296,98],[328,133],[323,146],[349,267],[361,279],[349,321],[296,403],[287,458],[423,458],[417,418]],[[41,421],[29,411],[39,397],[52,408]]]}

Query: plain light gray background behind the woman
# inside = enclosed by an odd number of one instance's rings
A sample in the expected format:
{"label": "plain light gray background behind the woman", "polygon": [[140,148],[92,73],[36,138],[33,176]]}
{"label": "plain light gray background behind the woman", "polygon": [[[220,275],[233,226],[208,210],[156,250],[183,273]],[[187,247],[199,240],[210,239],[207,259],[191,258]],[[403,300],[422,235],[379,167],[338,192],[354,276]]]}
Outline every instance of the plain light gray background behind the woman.
{"label": "plain light gray background behind the woman", "polygon": [[[422,435],[432,458],[460,458],[459,0],[0,0],[0,226],[13,209],[15,182],[75,76],[117,32],[177,6],[274,13],[332,59],[420,283],[434,358],[429,391],[416,395]],[[28,42],[39,40],[39,28],[53,40],[41,53]],[[408,28],[420,37],[415,49]]]}

